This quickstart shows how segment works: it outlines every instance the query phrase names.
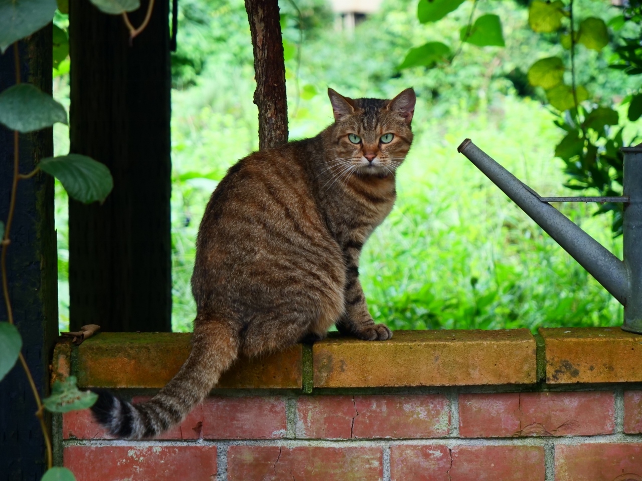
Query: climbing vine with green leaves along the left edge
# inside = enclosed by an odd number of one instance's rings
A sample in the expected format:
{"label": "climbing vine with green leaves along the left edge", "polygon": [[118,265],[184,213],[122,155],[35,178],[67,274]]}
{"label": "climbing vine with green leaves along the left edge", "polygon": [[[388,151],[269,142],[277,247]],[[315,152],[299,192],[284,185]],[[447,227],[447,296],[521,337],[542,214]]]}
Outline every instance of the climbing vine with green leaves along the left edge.
{"label": "climbing vine with green leaves along the left edge", "polygon": [[[105,13],[123,15],[130,31],[130,41],[146,26],[153,8],[150,1],[145,21],[139,28],[134,28],[128,20],[127,13],[139,7],[139,0],[92,0]],[[33,382],[30,369],[22,355],[22,337],[13,319],[13,309],[9,294],[6,257],[10,250],[11,228],[15,215],[16,192],[21,181],[28,181],[40,173],[55,176],[69,196],[83,203],[102,203],[113,188],[109,169],[100,162],[84,155],[69,154],[42,158],[35,169],[28,173],[20,170],[20,134],[38,131],[53,126],[56,122],[67,123],[67,112],[60,103],[49,94],[42,92],[35,85],[22,83],[21,63],[18,42],[40,30],[53,19],[56,7],[66,12],[68,5],[64,0],[56,4],[55,0],[17,0],[0,4],[0,52],[13,46],[15,60],[15,85],[0,92],[0,123],[13,130],[13,172],[10,202],[6,221],[0,220],[0,271],[2,275],[3,297],[6,306],[7,321],[0,322],[0,380],[13,369],[19,361],[33,392],[37,405],[35,416],[40,421],[42,435],[46,446],[47,471],[43,481],[73,481],[75,477],[67,468],[53,466],[51,439],[44,423],[44,411],[68,412],[86,409],[96,401],[96,394],[79,391],[76,378],[69,376],[62,382],[56,382],[51,396],[41,399]],[[55,67],[66,58],[68,43],[66,33],[57,27],[53,29],[53,62]]]}

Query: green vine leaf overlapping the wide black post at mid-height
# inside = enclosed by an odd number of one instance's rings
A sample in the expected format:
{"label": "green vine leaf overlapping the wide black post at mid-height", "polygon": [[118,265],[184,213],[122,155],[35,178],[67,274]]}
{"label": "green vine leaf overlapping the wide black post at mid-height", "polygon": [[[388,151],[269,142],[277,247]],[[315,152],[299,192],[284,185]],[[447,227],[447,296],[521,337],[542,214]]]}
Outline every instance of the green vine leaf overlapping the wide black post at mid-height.
{"label": "green vine leaf overlapping the wide black post at mid-height", "polygon": [[47,157],[39,165],[42,171],[60,180],[71,198],[85,204],[105,201],[114,187],[107,166],[85,155]]}

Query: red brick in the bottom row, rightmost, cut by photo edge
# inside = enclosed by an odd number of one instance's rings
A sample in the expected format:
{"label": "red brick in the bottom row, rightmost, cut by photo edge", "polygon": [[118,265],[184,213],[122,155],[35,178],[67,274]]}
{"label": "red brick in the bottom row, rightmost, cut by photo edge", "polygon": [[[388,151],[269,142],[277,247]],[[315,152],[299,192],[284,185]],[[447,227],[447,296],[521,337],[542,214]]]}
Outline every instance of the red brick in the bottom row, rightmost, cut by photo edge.
{"label": "red brick in the bottom row, rightmost, cut by photo edge", "polygon": [[555,481],[639,481],[642,444],[555,446]]}

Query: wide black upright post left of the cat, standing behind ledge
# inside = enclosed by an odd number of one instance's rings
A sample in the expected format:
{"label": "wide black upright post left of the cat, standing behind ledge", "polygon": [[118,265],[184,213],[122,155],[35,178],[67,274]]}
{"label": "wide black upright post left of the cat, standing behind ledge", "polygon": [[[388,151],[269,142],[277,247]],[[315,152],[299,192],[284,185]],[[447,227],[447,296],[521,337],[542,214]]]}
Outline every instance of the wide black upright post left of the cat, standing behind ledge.
{"label": "wide black upright post left of the cat, standing behind ledge", "polygon": [[[130,13],[135,27],[147,2]],[[71,329],[171,330],[169,1],[130,45],[120,15],[69,3],[71,152],[106,164],[104,205],[69,201]]]}

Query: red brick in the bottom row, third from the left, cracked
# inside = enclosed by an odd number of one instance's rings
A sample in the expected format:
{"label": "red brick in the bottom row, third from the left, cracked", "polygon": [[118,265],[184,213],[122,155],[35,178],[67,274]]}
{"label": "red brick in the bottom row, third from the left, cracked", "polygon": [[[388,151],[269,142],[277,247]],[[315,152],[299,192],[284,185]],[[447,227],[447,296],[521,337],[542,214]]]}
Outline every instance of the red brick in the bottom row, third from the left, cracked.
{"label": "red brick in the bottom row, third from the left, cracked", "polygon": [[544,481],[540,446],[416,446],[390,448],[392,481]]}

